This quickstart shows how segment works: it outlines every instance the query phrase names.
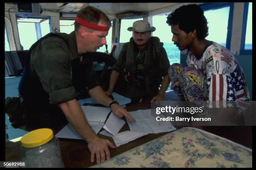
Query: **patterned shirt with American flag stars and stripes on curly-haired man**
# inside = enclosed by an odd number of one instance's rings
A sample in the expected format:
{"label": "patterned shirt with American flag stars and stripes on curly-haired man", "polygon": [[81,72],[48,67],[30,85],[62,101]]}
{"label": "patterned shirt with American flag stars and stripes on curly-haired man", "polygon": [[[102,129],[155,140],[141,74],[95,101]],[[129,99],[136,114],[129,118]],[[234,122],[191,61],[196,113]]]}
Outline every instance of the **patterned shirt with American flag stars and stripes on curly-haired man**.
{"label": "patterned shirt with American flag stars and stripes on curly-haired man", "polygon": [[187,65],[201,69],[207,77],[208,101],[250,100],[243,70],[227,48],[213,42],[200,60],[189,52]]}

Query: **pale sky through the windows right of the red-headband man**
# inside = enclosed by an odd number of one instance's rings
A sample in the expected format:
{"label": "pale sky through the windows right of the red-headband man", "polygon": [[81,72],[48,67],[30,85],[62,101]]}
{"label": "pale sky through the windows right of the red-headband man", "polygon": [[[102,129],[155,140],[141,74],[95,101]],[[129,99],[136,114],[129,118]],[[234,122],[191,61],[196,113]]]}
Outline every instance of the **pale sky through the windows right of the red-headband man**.
{"label": "pale sky through the windows right of the red-headband man", "polygon": [[[206,39],[218,43],[226,43],[229,7],[207,10],[204,15],[207,19],[207,26],[209,28],[209,35]],[[166,15],[153,16],[153,26],[156,27],[156,31],[153,32],[153,36],[159,37],[161,42],[172,43],[171,27],[166,23],[166,17]],[[136,20],[142,20],[142,18],[121,21],[120,42],[129,41],[132,36],[132,32],[129,32],[127,28],[131,27],[133,22]],[[252,21],[251,3],[249,5],[248,20]],[[252,43],[252,22],[247,22],[246,28],[246,43]]]}

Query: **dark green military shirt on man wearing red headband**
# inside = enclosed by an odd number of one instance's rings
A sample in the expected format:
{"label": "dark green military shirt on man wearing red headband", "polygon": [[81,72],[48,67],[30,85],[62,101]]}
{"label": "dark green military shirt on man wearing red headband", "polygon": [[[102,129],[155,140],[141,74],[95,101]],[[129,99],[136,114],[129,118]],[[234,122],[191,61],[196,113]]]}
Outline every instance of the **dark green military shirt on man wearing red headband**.
{"label": "dark green military shirt on man wearing red headband", "polygon": [[[72,82],[72,63],[79,61],[75,33],[58,34],[66,42],[59,37],[48,37],[39,42],[31,52],[30,73],[40,79],[52,105],[67,102],[77,96]],[[84,78],[82,72],[80,74],[81,79]],[[97,85],[94,77],[90,79],[87,83],[88,89]]]}

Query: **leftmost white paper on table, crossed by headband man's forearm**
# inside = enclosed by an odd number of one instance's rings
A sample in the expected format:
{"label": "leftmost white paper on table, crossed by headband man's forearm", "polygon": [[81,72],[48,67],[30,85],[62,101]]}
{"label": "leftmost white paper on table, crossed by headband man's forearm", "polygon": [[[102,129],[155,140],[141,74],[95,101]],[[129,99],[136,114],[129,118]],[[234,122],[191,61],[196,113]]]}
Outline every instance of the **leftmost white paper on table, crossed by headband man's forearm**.
{"label": "leftmost white paper on table, crossed by headband man's forearm", "polygon": [[[82,110],[91,126],[92,130],[97,134],[104,126],[105,120],[110,113],[109,107],[82,106]],[[57,138],[82,139],[69,123],[56,134]]]}

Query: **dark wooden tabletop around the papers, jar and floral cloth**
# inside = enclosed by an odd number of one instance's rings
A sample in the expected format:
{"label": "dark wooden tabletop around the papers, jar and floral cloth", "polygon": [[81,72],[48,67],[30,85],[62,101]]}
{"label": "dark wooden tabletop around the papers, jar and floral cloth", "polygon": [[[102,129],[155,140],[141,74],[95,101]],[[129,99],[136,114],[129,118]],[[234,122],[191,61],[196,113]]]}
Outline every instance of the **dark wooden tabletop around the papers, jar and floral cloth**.
{"label": "dark wooden tabletop around the papers, jar and floral cloth", "polygon": [[[128,111],[135,111],[139,109],[149,109],[151,108],[150,101],[145,101],[141,103],[137,103],[131,106],[126,107],[126,110]],[[126,119],[123,117],[123,120]],[[64,125],[51,128],[54,132],[54,134],[58,133],[62,128],[64,128]],[[183,126],[177,126],[175,128],[179,129]],[[34,130],[33,128],[28,127],[21,127],[23,129],[26,129],[28,131]],[[251,126],[205,126],[205,127],[195,127],[200,128],[202,130],[206,130],[210,133],[214,133],[215,135],[220,135],[221,137],[233,140],[236,143],[239,143],[241,145],[245,145],[248,148],[252,148],[252,127]],[[130,130],[127,123],[123,126],[123,128],[120,130],[120,132],[123,132],[125,130]],[[123,153],[127,150],[130,150],[132,148],[135,148],[136,146],[142,145],[144,143],[147,143],[153,139],[156,139],[162,135],[165,135],[169,132],[165,133],[158,133],[158,134],[148,134],[145,136],[142,136],[141,138],[138,138],[136,140],[133,140],[125,145],[120,145],[116,149],[110,150],[111,157],[114,157],[116,155],[119,155],[120,153]],[[114,143],[113,139],[104,136],[101,134],[98,134],[100,138],[105,138],[110,140],[112,143]],[[90,162],[90,151],[87,148],[87,143],[84,140],[72,140],[72,139],[59,139],[60,149],[62,158],[64,161],[64,165],[66,168],[87,168],[92,165],[96,164]],[[5,143],[5,160],[6,161],[18,161],[18,151],[20,148],[20,141],[18,142],[10,142],[8,141]]]}

